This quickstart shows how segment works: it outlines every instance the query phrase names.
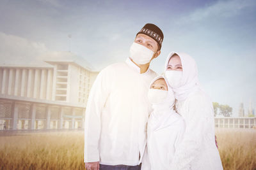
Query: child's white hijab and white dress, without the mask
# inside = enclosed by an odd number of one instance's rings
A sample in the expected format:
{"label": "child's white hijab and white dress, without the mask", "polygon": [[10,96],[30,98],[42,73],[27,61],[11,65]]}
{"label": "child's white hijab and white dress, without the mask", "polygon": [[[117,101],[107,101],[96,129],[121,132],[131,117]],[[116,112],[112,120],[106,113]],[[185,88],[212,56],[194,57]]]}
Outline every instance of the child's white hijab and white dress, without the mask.
{"label": "child's white hijab and white dress, without the mask", "polygon": [[[154,81],[163,76],[157,76]],[[151,83],[151,84],[152,84]],[[185,131],[183,118],[173,110],[175,97],[168,87],[168,96],[162,103],[152,104],[147,126],[147,148],[143,157],[142,170],[170,170],[175,150]]]}

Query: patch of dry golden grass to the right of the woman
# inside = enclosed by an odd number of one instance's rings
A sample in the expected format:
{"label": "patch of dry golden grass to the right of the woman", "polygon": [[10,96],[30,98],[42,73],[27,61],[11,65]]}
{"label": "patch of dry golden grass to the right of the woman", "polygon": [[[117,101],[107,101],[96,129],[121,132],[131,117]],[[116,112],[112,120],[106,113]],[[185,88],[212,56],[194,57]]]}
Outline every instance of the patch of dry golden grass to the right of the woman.
{"label": "patch of dry golden grass to the right of the woman", "polygon": [[216,136],[224,169],[256,169],[256,129],[218,129]]}

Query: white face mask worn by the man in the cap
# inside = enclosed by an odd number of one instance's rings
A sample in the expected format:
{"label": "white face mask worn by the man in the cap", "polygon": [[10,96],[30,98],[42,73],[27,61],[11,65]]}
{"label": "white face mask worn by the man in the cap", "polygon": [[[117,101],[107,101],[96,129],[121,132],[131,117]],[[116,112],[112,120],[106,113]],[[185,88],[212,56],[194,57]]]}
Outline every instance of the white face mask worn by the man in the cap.
{"label": "white face mask worn by the man in the cap", "polygon": [[154,55],[152,50],[138,43],[132,43],[130,57],[136,64],[147,64]]}

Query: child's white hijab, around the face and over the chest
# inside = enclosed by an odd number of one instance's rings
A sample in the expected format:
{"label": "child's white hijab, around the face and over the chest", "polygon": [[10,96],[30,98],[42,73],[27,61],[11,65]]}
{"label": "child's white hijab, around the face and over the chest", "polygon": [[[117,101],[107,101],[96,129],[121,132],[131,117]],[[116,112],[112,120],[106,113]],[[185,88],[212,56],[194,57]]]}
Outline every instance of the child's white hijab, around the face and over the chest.
{"label": "child's white hijab, around the face and over the chest", "polygon": [[[151,81],[149,89],[156,80],[161,78],[166,81],[168,86],[167,80],[164,76],[157,76],[154,78],[154,80]],[[173,109],[174,104],[174,93],[172,87],[168,86],[168,95],[166,96],[166,99],[164,99],[163,103],[152,104],[153,112],[150,115],[150,124],[154,130],[159,129],[160,126],[161,128],[164,128],[172,123],[170,120],[168,122],[166,122],[166,120],[168,120],[168,117],[170,117],[172,114],[177,114]],[[175,120],[173,120],[173,122],[175,122]]]}

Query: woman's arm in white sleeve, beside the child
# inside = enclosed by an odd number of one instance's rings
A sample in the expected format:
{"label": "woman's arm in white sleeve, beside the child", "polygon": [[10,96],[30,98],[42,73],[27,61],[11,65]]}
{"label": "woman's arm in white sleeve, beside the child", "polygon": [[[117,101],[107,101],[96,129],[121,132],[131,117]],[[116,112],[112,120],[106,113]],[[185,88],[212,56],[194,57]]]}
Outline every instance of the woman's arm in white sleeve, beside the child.
{"label": "woman's arm in white sleeve, beside the child", "polygon": [[170,169],[189,169],[189,164],[200,154],[202,139],[206,135],[205,128],[209,125],[207,114],[211,112],[211,106],[200,97],[193,97],[188,102],[184,139],[177,145]]}

